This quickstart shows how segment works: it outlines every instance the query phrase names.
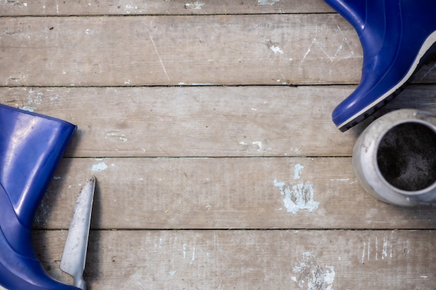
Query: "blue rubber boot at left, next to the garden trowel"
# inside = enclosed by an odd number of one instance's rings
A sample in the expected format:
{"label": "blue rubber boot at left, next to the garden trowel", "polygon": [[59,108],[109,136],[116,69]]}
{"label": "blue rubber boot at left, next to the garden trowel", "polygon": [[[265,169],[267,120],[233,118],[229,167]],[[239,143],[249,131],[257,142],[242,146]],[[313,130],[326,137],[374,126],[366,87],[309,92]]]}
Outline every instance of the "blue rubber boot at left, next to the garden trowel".
{"label": "blue rubber boot at left, next to the garden trowel", "polygon": [[32,248],[31,227],[77,127],[0,104],[0,288],[60,289]]}

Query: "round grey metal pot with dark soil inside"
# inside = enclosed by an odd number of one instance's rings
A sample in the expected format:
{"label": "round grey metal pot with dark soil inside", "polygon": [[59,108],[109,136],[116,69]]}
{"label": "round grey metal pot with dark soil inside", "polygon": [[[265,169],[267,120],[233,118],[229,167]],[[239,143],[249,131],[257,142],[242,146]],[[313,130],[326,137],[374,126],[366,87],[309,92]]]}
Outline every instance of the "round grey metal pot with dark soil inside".
{"label": "round grey metal pot with dark soil inside", "polygon": [[398,206],[436,204],[436,115],[402,109],[371,123],[352,156],[368,193]]}

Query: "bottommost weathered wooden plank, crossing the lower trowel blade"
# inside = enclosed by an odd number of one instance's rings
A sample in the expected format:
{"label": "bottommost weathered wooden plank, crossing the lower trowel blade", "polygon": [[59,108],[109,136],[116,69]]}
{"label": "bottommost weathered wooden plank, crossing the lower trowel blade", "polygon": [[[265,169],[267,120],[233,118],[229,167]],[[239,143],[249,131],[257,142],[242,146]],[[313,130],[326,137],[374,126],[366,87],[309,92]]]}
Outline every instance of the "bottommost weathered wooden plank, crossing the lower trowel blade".
{"label": "bottommost weathered wooden plank, crossing the lower trowel blade", "polygon": [[[34,233],[59,280],[65,232]],[[93,231],[89,289],[436,287],[435,231]]]}

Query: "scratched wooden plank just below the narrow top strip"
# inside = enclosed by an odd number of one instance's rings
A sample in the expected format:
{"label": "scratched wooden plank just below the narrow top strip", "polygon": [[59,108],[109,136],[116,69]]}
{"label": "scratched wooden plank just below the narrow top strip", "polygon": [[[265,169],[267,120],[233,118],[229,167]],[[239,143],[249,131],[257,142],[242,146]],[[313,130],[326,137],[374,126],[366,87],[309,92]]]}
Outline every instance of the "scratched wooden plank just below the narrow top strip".
{"label": "scratched wooden plank just below the narrow top strip", "polygon": [[0,31],[3,86],[357,83],[361,70],[336,14],[1,17]]}

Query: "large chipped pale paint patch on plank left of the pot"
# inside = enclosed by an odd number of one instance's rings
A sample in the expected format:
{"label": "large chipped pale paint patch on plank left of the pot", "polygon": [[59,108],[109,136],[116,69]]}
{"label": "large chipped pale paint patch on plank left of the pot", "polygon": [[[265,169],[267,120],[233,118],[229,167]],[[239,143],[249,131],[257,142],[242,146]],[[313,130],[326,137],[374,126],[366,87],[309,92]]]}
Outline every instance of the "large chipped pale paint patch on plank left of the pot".
{"label": "large chipped pale paint patch on plank left of the pot", "polygon": [[318,209],[320,203],[313,200],[313,186],[310,182],[294,185],[291,189],[284,182],[277,182],[277,179],[274,179],[274,186],[278,187],[281,195],[285,196],[283,204],[286,211],[297,214],[300,209],[307,209],[309,212]]}

